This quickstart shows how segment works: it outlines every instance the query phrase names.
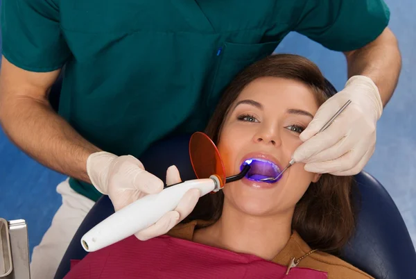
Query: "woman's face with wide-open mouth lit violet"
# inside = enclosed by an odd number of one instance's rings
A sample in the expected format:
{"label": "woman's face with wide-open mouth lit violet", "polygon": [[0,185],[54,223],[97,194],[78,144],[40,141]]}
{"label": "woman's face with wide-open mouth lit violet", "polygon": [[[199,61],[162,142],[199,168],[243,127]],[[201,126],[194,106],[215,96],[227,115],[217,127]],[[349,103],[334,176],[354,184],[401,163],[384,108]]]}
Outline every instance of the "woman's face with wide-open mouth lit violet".
{"label": "woman's face with wide-open mouth lit violet", "polygon": [[295,163],[275,183],[258,179],[286,167],[317,110],[313,92],[299,81],[265,77],[246,86],[225,119],[218,150],[227,176],[238,174],[243,162],[254,158],[251,178],[225,185],[225,202],[255,216],[293,211],[319,174]]}

